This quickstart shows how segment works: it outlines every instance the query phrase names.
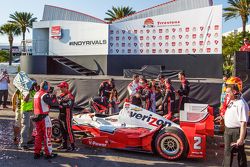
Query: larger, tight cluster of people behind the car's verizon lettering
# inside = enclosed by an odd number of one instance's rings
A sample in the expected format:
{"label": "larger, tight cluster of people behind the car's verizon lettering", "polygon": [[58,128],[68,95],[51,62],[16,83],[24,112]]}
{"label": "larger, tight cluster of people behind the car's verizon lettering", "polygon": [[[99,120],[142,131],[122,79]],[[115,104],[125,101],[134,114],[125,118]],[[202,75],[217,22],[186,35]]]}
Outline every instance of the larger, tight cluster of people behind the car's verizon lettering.
{"label": "larger, tight cluster of people behind the car's verizon lettering", "polygon": [[[131,103],[155,113],[161,110],[163,115],[170,117],[173,112],[183,110],[184,103],[189,99],[190,83],[185,73],[179,72],[178,78],[181,84],[179,89],[175,90],[171,79],[165,78],[164,75],[150,81],[143,76],[134,75],[133,81],[127,87]],[[158,105],[157,100],[160,101]]]}

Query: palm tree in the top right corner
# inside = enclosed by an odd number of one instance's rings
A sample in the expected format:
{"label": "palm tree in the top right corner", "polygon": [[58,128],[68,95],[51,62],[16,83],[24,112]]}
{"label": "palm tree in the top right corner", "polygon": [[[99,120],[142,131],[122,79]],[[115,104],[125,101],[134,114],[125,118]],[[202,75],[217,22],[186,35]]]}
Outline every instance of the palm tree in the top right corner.
{"label": "palm tree in the top right corner", "polygon": [[225,21],[241,17],[242,28],[243,28],[243,38],[246,36],[246,24],[248,22],[248,16],[250,15],[250,0],[228,0],[230,4],[229,7],[224,8]]}

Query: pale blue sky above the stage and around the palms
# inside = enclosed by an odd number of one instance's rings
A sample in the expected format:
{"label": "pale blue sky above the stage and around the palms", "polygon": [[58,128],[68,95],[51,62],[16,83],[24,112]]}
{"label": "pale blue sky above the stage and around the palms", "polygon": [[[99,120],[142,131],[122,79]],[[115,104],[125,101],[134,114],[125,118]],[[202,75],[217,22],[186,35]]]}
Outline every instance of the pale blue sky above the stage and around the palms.
{"label": "pale blue sky above the stage and around the palms", "polygon": [[[9,15],[18,12],[33,13],[38,21],[42,19],[44,5],[63,7],[78,12],[83,12],[100,19],[106,17],[105,12],[112,6],[130,6],[135,11],[140,11],[169,0],[2,0],[0,5],[0,26],[9,20]],[[227,7],[228,0],[214,0],[214,5],[222,4]],[[241,27],[241,20],[223,20],[223,32]],[[26,39],[32,39],[32,33],[27,33]],[[20,45],[21,36],[15,37],[14,44]],[[7,37],[0,35],[0,45],[8,43]]]}

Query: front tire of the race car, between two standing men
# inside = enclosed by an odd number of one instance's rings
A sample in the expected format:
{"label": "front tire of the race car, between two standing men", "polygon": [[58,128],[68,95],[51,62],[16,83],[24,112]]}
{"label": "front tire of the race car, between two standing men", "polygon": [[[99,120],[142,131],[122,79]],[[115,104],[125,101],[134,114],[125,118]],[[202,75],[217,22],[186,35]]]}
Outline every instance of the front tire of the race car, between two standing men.
{"label": "front tire of the race car, between two standing men", "polygon": [[60,142],[62,140],[61,122],[59,119],[51,120],[52,134],[51,138],[54,142]]}

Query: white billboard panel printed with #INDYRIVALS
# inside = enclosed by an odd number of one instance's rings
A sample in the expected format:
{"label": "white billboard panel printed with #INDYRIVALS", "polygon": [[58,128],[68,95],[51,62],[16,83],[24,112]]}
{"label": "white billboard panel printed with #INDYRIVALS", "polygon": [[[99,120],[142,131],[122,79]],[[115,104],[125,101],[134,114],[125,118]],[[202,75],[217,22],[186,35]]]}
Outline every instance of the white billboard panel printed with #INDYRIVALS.
{"label": "white billboard panel printed with #INDYRIVALS", "polygon": [[45,22],[49,24],[51,34],[49,55],[108,54],[107,24],[63,20]]}

